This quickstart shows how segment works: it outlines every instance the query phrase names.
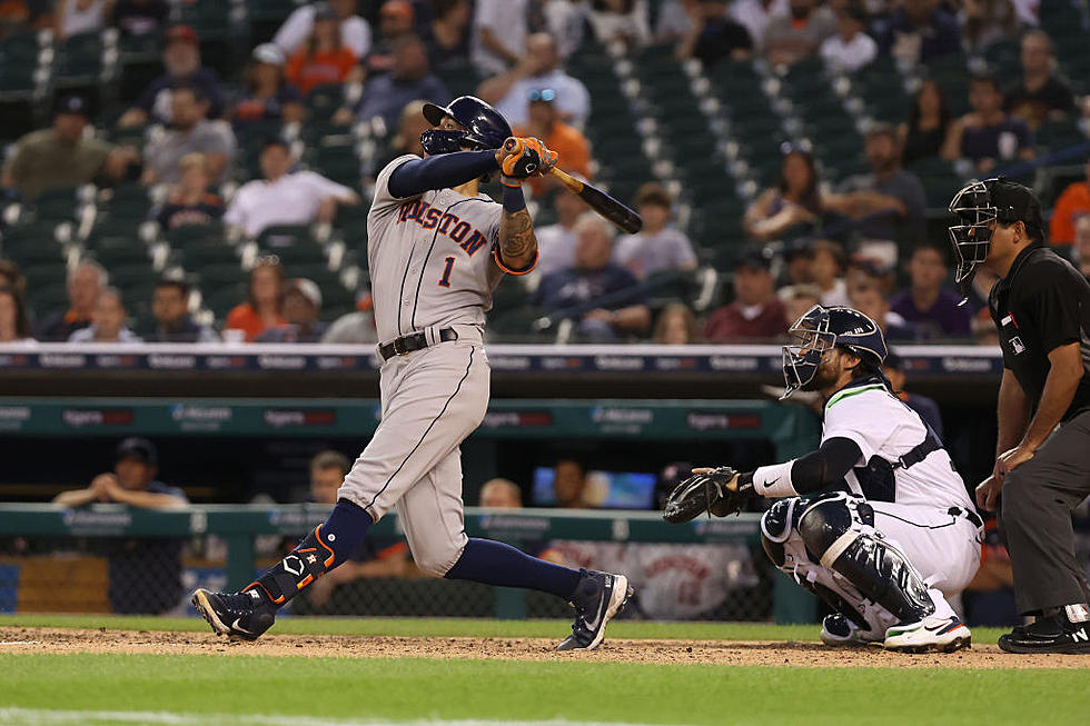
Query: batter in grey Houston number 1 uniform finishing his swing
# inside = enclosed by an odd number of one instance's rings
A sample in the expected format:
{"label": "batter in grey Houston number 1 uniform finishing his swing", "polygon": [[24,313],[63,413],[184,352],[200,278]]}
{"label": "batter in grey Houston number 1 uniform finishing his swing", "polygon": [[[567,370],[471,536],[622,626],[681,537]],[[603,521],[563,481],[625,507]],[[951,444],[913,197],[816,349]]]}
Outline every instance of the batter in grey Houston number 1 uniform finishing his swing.
{"label": "batter in grey Houston number 1 uniform finishing his swing", "polygon": [[[436,577],[553,593],[576,609],[558,649],[595,648],[631,595],[623,575],[571,569],[502,543],[467,538],[459,445],[488,407],[482,342],[492,292],[505,274],[537,262],[521,185],[556,155],[512,138],[507,121],[464,96],[426,105],[425,158],[403,156],[378,175],[367,219],[368,262],[382,367],[383,420],[338,490],[329,518],[237,594],[198,589],[212,628],[255,639],[301,589],[347,559],[397,506],[413,558]],[[495,176],[503,203],[479,193]]]}

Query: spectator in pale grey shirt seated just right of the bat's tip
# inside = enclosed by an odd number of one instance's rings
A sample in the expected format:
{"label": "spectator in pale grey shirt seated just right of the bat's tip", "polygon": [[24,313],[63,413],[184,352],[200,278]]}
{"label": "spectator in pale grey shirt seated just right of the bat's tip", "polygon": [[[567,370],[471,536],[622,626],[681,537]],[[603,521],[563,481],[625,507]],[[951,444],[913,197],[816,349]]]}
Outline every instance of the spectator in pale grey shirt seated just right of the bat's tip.
{"label": "spectator in pale grey shirt seated just right of the bat's tip", "polygon": [[640,187],[635,206],[643,217],[643,229],[617,243],[613,256],[617,265],[628,268],[640,279],[666,270],[696,269],[693,243],[685,232],[670,225],[673,203],[662,185],[648,181]]}

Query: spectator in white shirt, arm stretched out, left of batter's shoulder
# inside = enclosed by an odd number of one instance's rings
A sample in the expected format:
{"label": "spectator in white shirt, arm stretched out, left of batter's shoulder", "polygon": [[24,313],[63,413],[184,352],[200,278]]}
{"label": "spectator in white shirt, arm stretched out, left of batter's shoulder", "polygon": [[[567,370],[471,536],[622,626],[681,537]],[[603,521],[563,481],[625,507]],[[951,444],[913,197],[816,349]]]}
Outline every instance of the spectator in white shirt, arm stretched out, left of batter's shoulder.
{"label": "spectator in white shirt, arm stretched out, left of batter's shoulder", "polygon": [[355,191],[314,171],[291,171],[291,150],[280,139],[267,141],[259,157],[262,179],[235,193],[224,221],[257,237],[274,225],[331,222],[337,205],[358,205]]}

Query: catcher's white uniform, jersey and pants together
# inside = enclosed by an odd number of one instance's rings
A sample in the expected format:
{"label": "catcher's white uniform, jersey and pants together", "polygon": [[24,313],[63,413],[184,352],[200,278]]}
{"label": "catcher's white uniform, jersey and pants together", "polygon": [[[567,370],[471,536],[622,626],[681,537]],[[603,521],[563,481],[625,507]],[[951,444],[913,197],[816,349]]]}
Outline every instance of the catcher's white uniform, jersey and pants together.
{"label": "catcher's white uniform, jersey and pants together", "polygon": [[856,606],[875,633],[884,633],[896,618],[828,566],[835,554],[826,555],[829,561],[813,561],[796,526],[819,501],[846,499],[853,529],[900,550],[926,585],[935,616],[952,616],[945,597],[961,593],[980,565],[980,520],[945,449],[933,448],[921,460],[900,465],[928,435],[919,414],[885,386],[863,381],[841,389],[825,404],[822,441],[848,438],[859,445],[860,460],[845,477],[849,491],[781,499],[761,521],[764,537],[783,547],[783,571],[809,589],[815,584],[829,587]]}

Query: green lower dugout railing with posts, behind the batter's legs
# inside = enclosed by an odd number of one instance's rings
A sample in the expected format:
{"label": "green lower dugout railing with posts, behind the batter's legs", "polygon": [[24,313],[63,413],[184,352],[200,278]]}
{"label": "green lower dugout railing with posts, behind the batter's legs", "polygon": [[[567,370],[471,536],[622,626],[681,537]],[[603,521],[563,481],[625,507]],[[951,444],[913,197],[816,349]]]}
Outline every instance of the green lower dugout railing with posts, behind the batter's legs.
{"label": "green lower dugout railing with posts, behind the batter's legs", "polygon": [[[220,560],[224,577],[214,581],[238,588],[254,579],[262,565],[257,556],[257,538],[299,537],[324,520],[329,507],[320,505],[192,505],[170,510],[137,509],[122,505],[91,505],[68,508],[42,504],[0,505],[0,543],[22,541],[34,556],[0,557],[0,610],[23,611],[20,588],[29,579],[34,563],[50,557],[69,557],[73,543],[86,548],[88,541],[164,541],[219,538],[225,545]],[[682,526],[664,523],[658,513],[555,509],[484,509],[469,507],[465,517],[466,534],[513,544],[554,540],[592,543],[745,545],[755,558],[760,555],[757,514],[729,518],[701,518]],[[370,535],[402,538],[396,511],[377,523]],[[36,543],[44,546],[36,546]],[[49,555],[60,546],[68,550]],[[29,569],[28,569],[29,568]],[[765,618],[777,623],[806,623],[815,617],[813,598],[777,571],[763,567],[766,579],[760,587],[771,603]],[[448,587],[453,583],[428,581],[427,586]],[[439,590],[442,593],[442,590]],[[524,618],[527,595],[523,590],[492,588],[490,615],[499,618]],[[749,619],[754,619],[751,614]]]}

